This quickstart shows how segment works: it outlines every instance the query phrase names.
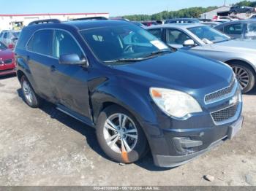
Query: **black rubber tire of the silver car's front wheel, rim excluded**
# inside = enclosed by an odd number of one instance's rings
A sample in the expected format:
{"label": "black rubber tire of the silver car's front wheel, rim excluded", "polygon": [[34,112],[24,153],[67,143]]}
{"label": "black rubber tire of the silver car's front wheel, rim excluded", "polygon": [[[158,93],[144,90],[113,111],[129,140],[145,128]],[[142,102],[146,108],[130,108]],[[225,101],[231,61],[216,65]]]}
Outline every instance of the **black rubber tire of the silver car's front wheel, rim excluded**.
{"label": "black rubber tire of the silver car's front wheel, rim excluded", "polygon": [[[242,93],[249,93],[250,90],[252,90],[253,87],[255,87],[255,71],[247,66],[245,63],[242,62],[233,62],[230,63],[230,66],[233,68],[233,71],[236,74],[236,67],[243,69],[244,71],[246,71],[246,73],[248,74],[249,77],[249,82],[246,85],[246,87],[243,87]],[[236,74],[236,77],[238,78],[238,82],[241,84],[241,80],[238,77],[238,74]]]}

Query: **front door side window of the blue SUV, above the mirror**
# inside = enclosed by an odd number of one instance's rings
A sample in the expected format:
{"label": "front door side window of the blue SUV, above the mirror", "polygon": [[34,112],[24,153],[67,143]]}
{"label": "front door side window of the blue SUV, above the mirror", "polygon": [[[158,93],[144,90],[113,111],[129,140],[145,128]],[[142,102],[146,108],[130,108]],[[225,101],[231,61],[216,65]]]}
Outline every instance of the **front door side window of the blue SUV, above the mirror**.
{"label": "front door side window of the blue SUV, above the mirror", "polygon": [[[100,41],[100,36],[94,36],[94,39]],[[59,58],[61,55],[77,54],[82,60],[83,52],[75,42],[75,39],[66,31],[56,30],[53,38],[53,57]]]}

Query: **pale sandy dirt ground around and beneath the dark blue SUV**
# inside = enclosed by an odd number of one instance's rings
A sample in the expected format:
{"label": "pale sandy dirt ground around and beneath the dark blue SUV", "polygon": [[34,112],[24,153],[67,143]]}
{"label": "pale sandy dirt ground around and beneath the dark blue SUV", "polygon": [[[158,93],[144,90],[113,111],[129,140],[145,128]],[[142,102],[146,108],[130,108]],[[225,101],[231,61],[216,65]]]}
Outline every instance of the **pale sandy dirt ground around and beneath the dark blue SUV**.
{"label": "pale sandy dirt ground around and beneath the dark blue SUV", "polygon": [[51,104],[26,106],[16,77],[0,78],[0,115],[0,185],[256,185],[256,90],[244,95],[244,128],[235,139],[173,169],[155,167],[150,154],[113,163],[94,129]]}

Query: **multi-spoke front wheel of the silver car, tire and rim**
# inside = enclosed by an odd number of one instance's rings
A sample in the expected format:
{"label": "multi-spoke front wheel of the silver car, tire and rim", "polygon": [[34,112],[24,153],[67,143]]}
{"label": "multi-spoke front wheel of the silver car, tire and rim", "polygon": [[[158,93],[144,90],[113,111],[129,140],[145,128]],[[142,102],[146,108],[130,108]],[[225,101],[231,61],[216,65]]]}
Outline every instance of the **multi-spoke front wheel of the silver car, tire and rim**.
{"label": "multi-spoke front wheel of the silver car, tire and rim", "polygon": [[255,71],[244,63],[234,62],[230,66],[236,74],[236,78],[242,87],[242,93],[249,93],[255,86]]}

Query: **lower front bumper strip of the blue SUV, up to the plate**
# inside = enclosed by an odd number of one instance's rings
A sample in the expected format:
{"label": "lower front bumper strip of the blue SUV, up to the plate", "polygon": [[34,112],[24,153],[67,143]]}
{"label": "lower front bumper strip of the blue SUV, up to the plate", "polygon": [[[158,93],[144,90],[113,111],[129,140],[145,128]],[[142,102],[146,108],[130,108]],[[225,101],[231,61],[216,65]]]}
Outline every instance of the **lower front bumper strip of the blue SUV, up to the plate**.
{"label": "lower front bumper strip of the blue SUV, up to the plate", "polygon": [[[217,141],[212,142],[208,145],[205,149],[199,149],[197,152],[187,152],[185,155],[154,155],[154,163],[157,166],[160,167],[176,167],[178,165],[183,165],[184,163],[188,163],[190,160],[195,159],[196,157],[199,157],[205,152],[208,152],[212,148],[216,147],[218,144],[222,144],[222,142],[226,141],[227,139],[233,139],[233,136],[238,133],[238,131],[241,129],[242,123],[243,123],[244,117],[240,116],[236,122],[233,122],[233,124],[227,126],[227,132],[225,135],[222,135],[221,139],[218,139]],[[222,127],[223,128],[223,127]],[[221,135],[221,134],[220,134]]]}

